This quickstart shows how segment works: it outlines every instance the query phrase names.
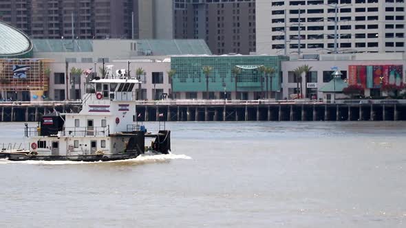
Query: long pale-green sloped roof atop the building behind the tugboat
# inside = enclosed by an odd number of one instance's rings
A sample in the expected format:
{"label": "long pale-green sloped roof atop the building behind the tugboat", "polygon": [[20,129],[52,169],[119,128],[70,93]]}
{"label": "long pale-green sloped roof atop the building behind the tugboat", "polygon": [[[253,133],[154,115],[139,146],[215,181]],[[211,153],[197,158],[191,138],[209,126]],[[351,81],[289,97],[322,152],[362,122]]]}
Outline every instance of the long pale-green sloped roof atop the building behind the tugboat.
{"label": "long pale-green sloped roof atop the building behind the tugboat", "polygon": [[206,54],[211,51],[203,40],[70,40],[34,39],[34,56],[56,62],[105,62],[142,56]]}

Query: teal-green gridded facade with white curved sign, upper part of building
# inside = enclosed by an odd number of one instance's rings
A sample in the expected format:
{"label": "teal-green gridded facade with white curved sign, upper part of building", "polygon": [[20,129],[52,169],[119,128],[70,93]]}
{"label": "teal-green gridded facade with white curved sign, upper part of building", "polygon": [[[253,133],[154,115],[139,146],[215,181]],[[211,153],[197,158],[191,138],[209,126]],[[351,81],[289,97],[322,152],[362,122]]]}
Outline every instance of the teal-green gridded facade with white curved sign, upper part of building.
{"label": "teal-green gridded facade with white curved sign, upper part of building", "polygon": [[266,88],[266,81],[261,84],[263,73],[257,67],[273,67],[272,87],[268,80],[268,89],[279,91],[281,89],[281,61],[288,60],[286,56],[173,56],[171,69],[175,70],[173,76],[174,92],[206,91],[206,76],[202,67],[210,66],[213,70],[209,76],[209,91],[235,91],[235,77],[232,69],[242,67],[237,77],[237,91],[261,91]]}

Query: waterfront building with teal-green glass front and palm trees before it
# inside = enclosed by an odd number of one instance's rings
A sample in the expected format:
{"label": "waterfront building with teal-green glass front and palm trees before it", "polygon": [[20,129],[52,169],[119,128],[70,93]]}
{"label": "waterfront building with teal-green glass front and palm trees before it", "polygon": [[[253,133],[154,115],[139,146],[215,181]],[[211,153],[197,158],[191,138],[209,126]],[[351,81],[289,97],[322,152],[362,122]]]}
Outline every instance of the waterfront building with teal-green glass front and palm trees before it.
{"label": "waterfront building with teal-green glass front and palm trees before it", "polygon": [[[178,99],[203,99],[206,94],[204,67],[211,67],[209,99],[256,100],[281,99],[281,61],[285,56],[173,56],[171,69],[173,92]],[[265,75],[261,66],[273,67],[275,73]],[[234,69],[237,69],[235,71]]]}

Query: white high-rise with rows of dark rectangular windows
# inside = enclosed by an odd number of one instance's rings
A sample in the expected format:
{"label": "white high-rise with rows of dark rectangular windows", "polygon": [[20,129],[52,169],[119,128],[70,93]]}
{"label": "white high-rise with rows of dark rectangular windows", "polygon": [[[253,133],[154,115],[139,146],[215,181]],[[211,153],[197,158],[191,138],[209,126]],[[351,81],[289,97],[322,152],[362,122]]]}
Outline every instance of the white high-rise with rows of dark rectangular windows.
{"label": "white high-rise with rows of dark rectangular windows", "polygon": [[257,54],[405,52],[405,8],[404,0],[257,0]]}

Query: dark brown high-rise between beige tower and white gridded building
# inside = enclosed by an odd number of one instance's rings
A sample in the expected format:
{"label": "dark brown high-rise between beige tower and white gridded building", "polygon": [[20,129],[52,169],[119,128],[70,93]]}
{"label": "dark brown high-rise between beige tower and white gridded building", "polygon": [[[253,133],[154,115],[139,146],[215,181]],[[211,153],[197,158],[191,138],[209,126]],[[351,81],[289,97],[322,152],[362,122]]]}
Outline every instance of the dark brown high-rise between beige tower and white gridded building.
{"label": "dark brown high-rise between beige tower and white gridded building", "polygon": [[175,38],[203,38],[213,54],[255,52],[255,0],[173,0]]}

